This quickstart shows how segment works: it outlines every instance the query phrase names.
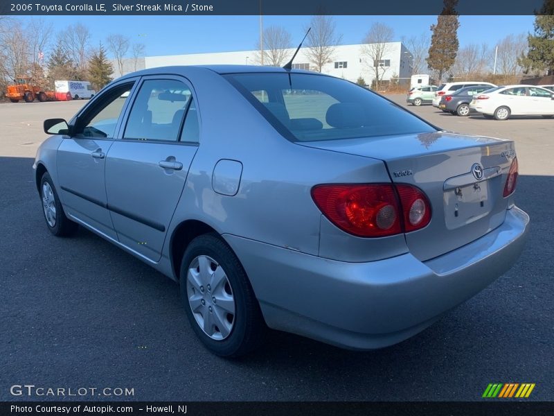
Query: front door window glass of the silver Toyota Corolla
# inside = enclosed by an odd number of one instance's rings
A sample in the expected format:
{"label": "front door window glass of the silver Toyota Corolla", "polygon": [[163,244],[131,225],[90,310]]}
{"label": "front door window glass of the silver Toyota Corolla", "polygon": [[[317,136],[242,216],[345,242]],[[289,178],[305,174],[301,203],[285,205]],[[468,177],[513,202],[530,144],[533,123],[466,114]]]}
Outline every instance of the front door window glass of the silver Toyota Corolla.
{"label": "front door window glass of the silver Toyota Corolla", "polygon": [[75,126],[76,137],[113,138],[133,85],[134,82],[118,85],[103,93],[96,105],[79,116]]}

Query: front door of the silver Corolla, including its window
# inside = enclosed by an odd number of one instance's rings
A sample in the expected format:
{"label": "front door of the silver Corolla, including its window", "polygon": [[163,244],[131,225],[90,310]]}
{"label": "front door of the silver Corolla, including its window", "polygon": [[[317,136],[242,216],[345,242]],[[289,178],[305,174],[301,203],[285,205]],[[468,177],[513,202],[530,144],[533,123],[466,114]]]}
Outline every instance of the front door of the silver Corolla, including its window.
{"label": "front door of the silver Corolla, including its window", "polygon": [[66,214],[111,239],[117,236],[107,210],[105,156],[136,79],[117,83],[84,107],[70,121],[71,137],[64,137],[57,148],[57,178]]}

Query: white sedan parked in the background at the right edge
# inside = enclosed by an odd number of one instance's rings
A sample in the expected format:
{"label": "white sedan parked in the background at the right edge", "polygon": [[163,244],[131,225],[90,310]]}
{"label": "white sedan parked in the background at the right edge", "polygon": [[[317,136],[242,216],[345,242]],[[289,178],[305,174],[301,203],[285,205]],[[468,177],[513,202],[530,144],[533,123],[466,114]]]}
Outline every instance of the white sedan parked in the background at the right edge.
{"label": "white sedan parked in the background at the right edge", "polygon": [[554,116],[554,93],[533,85],[506,85],[474,96],[470,108],[487,119],[507,120],[510,116]]}

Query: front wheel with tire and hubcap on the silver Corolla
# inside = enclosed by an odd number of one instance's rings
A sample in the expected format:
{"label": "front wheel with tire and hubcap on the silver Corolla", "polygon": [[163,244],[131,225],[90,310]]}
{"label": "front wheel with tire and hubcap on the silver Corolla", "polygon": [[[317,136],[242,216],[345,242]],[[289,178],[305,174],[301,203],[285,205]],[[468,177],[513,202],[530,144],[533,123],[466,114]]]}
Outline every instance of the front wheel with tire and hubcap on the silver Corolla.
{"label": "front wheel with tire and hubcap on the silver Corolla", "polygon": [[44,220],[46,220],[46,226],[50,232],[58,237],[75,234],[79,225],[66,217],[48,172],[44,173],[40,180],[40,198]]}

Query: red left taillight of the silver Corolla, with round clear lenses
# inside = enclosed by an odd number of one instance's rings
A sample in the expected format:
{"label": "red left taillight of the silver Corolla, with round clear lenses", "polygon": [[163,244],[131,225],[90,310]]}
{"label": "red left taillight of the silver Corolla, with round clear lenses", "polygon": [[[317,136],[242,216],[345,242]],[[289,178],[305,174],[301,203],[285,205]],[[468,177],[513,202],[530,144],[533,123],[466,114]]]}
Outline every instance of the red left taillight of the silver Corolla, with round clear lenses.
{"label": "red left taillight of the silver Corolla, with round clear lenses", "polygon": [[317,185],[312,198],[334,225],[360,237],[410,232],[431,220],[429,200],[411,185]]}

